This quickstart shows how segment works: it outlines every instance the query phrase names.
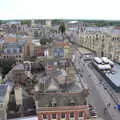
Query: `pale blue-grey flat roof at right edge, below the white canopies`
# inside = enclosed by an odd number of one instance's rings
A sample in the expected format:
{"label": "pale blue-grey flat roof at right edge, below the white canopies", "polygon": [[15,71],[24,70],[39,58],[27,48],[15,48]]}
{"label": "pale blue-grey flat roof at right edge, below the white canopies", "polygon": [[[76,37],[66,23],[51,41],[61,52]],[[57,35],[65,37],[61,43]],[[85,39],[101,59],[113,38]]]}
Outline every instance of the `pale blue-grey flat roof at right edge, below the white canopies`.
{"label": "pale blue-grey flat roof at right edge, below the white canopies", "polygon": [[114,64],[114,74],[106,73],[106,76],[117,86],[120,87],[120,65]]}

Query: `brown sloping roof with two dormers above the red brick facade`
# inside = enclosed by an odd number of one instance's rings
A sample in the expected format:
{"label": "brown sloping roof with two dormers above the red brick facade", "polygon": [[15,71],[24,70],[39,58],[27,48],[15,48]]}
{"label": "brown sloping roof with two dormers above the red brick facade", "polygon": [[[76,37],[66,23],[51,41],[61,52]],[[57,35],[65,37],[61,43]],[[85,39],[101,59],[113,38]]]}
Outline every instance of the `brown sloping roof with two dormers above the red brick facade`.
{"label": "brown sloping roof with two dormers above the red brick facade", "polygon": [[[38,106],[45,110],[51,107],[69,107],[69,106],[80,106],[86,104],[86,97],[88,91],[83,90],[82,92],[50,92],[50,93],[38,93],[36,98],[38,100]],[[44,107],[44,108],[43,108]],[[65,107],[65,109],[67,109]],[[46,109],[48,110],[48,109]]]}

